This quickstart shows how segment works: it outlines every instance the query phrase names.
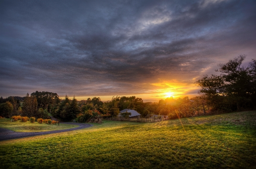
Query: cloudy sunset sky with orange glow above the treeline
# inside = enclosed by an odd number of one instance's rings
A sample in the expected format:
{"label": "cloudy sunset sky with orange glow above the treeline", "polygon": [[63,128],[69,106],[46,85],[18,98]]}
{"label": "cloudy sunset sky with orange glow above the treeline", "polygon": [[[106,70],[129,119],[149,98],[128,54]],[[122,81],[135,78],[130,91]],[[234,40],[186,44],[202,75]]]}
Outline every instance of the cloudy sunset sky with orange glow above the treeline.
{"label": "cloudy sunset sky with orange glow above the treeline", "polygon": [[255,0],[1,0],[0,95],[194,97],[256,58]]}

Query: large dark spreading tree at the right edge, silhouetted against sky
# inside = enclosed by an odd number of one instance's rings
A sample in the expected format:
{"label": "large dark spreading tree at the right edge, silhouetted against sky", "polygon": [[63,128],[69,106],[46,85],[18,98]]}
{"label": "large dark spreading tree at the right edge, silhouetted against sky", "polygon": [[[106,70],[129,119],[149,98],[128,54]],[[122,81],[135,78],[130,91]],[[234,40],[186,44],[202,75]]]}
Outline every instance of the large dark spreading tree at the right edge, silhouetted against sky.
{"label": "large dark spreading tree at the right edge, silhouetted against sky", "polygon": [[196,81],[199,93],[215,111],[240,111],[253,109],[256,98],[256,61],[242,67],[245,55],[239,55],[226,64],[218,64],[221,75],[205,75]]}

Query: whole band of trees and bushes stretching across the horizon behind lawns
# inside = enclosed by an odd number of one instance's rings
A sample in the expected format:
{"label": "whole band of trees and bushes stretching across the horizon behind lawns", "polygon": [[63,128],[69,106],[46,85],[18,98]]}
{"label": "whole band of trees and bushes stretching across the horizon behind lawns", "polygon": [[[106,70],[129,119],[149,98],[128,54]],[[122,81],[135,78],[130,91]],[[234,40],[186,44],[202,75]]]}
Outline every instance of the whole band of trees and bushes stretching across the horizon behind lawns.
{"label": "whole band of trees and bushes stretching across the horizon behind lawns", "polygon": [[256,60],[242,66],[245,55],[239,55],[225,64],[218,64],[219,75],[204,75],[195,85],[200,86],[198,96],[193,98],[168,97],[158,103],[144,103],[135,96],[113,96],[102,102],[100,97],[76,100],[66,95],[62,100],[57,93],[35,91],[25,97],[0,97],[0,116],[28,116],[63,121],[86,122],[94,116],[114,117],[123,109],[138,111],[142,118],[164,115],[169,119],[220,114],[256,109]]}

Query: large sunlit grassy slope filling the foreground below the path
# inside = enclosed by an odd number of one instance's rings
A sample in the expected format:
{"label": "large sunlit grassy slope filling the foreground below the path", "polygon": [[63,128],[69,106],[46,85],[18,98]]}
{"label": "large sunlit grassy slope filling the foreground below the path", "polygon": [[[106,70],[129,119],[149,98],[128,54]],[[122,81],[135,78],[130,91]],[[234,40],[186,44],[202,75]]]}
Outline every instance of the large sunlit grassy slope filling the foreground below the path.
{"label": "large sunlit grassy slope filling the foreground below the path", "polygon": [[155,123],[103,121],[0,142],[0,168],[256,168],[256,111]]}

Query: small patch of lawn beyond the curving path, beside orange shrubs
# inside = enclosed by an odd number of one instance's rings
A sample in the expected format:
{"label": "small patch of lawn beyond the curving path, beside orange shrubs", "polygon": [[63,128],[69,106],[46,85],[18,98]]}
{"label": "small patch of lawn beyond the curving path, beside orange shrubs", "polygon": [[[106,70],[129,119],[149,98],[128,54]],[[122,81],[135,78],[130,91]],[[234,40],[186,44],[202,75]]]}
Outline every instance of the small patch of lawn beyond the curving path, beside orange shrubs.
{"label": "small patch of lawn beyond the curving path, beside orange shrubs", "polygon": [[40,132],[40,131],[52,131],[52,130],[63,130],[73,127],[78,127],[78,125],[67,125],[62,124],[60,125],[48,125],[45,123],[38,123],[38,122],[11,122],[11,119],[0,119],[0,127],[7,128],[9,130],[17,131],[17,132]]}

